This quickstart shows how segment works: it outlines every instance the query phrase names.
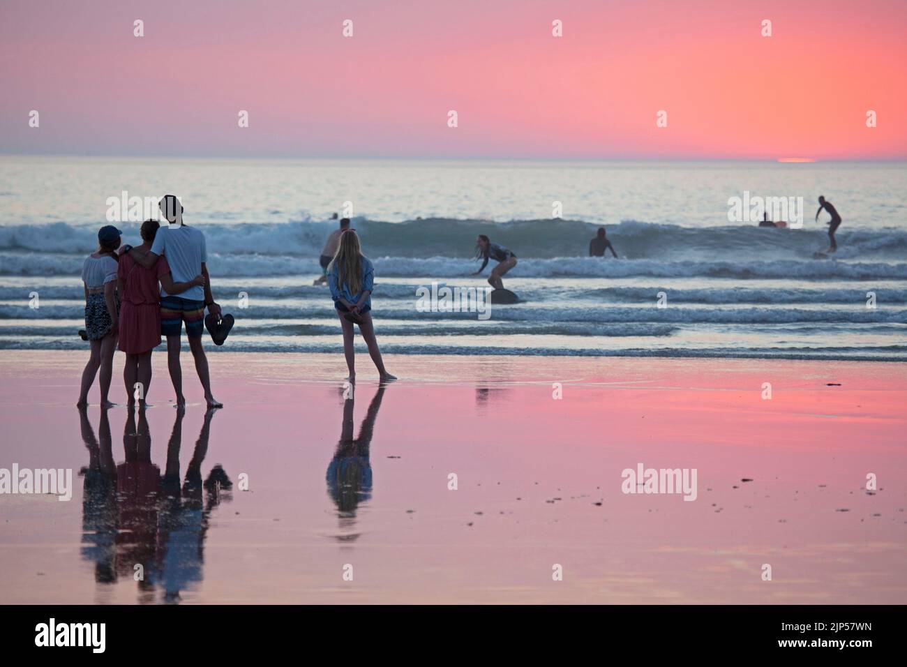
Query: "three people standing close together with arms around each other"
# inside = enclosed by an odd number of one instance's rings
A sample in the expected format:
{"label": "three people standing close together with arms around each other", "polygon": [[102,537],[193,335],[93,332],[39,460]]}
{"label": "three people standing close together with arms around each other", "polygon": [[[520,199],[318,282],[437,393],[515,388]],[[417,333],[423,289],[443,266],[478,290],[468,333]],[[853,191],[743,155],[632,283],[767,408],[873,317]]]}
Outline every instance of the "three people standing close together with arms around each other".
{"label": "three people standing close together with arms around each other", "polygon": [[140,246],[121,248],[121,232],[107,225],[98,232],[98,250],[85,259],[85,338],[92,353],[82,375],[79,406],[88,404],[88,391],[99,369],[101,404],[110,403],[118,340],[126,353],[123,381],[129,403],[138,399],[143,405],[151,385],[151,351],[161,344],[161,336],[167,337],[176,404],[185,405],[180,368],[183,322],[208,407],[220,406],[211,393],[208,358],[201,346],[205,308],[214,315],[220,312],[211,295],[205,236],[183,224],[182,205],[175,196],[165,196],[160,207],[169,224],[161,230],[158,221],[145,221]]}

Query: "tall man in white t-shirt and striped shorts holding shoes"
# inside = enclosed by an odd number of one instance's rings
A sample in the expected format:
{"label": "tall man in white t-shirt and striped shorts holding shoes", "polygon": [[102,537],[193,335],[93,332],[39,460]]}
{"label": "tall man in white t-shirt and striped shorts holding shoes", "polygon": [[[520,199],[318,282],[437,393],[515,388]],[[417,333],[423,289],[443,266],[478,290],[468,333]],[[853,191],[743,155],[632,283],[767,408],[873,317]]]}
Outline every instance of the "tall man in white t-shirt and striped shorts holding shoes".
{"label": "tall man in white t-shirt and striped shorts holding shoes", "polygon": [[[128,247],[130,257],[136,263],[151,269],[159,257],[167,258],[171,276],[175,282],[192,280],[199,274],[205,279],[204,287],[195,286],[171,296],[161,288],[161,335],[167,337],[167,366],[170,368],[173,390],[176,392],[177,407],[185,407],[186,398],[182,395],[182,369],[180,368],[180,334],[182,323],[186,323],[186,335],[189,348],[195,358],[195,369],[199,373],[201,387],[205,390],[208,407],[223,407],[211,393],[211,381],[208,372],[208,358],[201,345],[201,335],[205,331],[205,308],[217,315],[220,307],[211,295],[211,282],[208,276],[208,249],[205,235],[200,230],[183,224],[182,204],[177,198],[168,194],[158,203],[161,213],[169,222],[161,225],[151,251],[141,254]],[[189,278],[185,278],[189,276]]]}

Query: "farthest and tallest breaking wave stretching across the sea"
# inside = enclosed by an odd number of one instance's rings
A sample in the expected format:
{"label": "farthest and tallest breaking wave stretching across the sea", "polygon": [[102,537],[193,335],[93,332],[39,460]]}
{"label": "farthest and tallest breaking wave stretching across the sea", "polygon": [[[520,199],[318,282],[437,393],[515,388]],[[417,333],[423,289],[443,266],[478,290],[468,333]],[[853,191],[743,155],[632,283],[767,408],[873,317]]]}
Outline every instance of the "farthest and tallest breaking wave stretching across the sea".
{"label": "farthest and tallest breaking wave stretching across the sea", "polygon": [[[583,221],[432,220],[384,222],[356,219],[366,254],[372,257],[467,259],[473,240],[484,233],[510,248],[522,259],[577,258],[588,256],[597,225]],[[87,254],[97,246],[100,225],[54,222],[42,225],[0,226],[0,251]],[[140,241],[139,224],[119,225],[123,240]],[[336,221],[205,222],[208,250],[222,257],[267,255],[317,260]],[[808,226],[809,227],[809,226]],[[812,259],[815,250],[827,247],[826,228],[814,223],[804,230],[775,230],[753,225],[690,228],[680,225],[622,221],[608,226],[618,254],[634,260]],[[902,229],[848,229],[837,232],[837,259],[904,260],[907,231]],[[588,258],[587,258],[588,259]]]}

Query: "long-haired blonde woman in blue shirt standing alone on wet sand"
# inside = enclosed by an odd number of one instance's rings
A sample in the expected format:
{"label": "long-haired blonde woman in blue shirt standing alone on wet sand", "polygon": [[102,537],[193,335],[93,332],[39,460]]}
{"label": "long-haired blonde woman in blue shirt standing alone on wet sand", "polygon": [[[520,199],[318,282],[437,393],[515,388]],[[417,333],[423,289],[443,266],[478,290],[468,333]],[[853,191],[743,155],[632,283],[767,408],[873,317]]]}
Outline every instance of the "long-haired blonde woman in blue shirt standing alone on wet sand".
{"label": "long-haired blonde woman in blue shirt standing alone on wet sand", "polygon": [[366,340],[368,354],[375,362],[382,382],[396,378],[387,372],[375,327],[372,324],[372,289],[375,288],[375,269],[372,262],[362,254],[356,230],[349,228],[340,234],[336,255],[327,266],[327,286],[331,289],[334,308],[340,318],[343,330],[343,352],[350,382],[356,381],[356,352],[353,347],[353,325],[359,325],[359,333]]}

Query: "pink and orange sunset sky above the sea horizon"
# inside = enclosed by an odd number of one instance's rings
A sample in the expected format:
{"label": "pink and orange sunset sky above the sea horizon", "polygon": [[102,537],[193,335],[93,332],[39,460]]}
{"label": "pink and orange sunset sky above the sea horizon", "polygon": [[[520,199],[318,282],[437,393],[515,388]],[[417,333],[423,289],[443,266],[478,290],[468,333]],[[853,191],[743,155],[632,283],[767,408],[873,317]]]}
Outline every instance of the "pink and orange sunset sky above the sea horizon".
{"label": "pink and orange sunset sky above the sea horizon", "polygon": [[902,0],[4,0],[0,152],[897,160],[904,34]]}

